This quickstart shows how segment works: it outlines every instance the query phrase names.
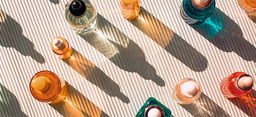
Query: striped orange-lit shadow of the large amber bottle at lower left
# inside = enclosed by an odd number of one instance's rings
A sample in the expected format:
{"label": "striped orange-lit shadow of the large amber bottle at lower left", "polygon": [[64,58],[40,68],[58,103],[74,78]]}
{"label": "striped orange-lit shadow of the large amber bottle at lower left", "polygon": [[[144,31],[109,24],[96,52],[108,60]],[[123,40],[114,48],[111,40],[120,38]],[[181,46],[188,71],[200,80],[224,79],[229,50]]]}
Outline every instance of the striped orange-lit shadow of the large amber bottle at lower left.
{"label": "striped orange-lit shadow of the large amber bottle at lower left", "polygon": [[61,103],[49,104],[60,114],[63,116],[109,116],[70,84],[66,83],[66,85],[68,85],[66,99]]}

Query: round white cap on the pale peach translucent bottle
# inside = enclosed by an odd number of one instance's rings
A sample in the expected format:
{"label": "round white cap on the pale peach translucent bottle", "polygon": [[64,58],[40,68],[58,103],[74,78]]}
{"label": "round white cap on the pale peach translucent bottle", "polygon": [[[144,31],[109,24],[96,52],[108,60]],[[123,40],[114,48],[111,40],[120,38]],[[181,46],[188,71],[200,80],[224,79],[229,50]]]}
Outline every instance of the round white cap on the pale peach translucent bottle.
{"label": "round white cap on the pale peach translucent bottle", "polygon": [[187,81],[181,85],[181,94],[186,98],[192,98],[197,95],[198,84],[194,81]]}

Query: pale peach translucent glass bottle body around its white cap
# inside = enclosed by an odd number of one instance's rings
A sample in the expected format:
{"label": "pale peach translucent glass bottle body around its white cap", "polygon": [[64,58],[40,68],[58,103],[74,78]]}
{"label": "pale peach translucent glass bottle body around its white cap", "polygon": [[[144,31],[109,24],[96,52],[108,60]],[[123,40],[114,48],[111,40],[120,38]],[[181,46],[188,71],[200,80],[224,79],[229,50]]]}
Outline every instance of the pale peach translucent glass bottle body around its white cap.
{"label": "pale peach translucent glass bottle body around its white cap", "polygon": [[[181,92],[181,86],[183,83],[185,82],[188,82],[188,81],[192,81],[194,83],[196,83],[198,85],[198,92],[196,95],[194,95],[193,97],[191,98],[187,98],[185,97],[182,92]],[[194,79],[191,79],[191,78],[185,78],[185,79],[182,79],[181,81],[179,81],[172,89],[172,97],[173,99],[176,100],[177,103],[179,104],[191,104],[193,102],[195,102],[201,95],[201,87],[199,86],[199,84],[194,81]]]}

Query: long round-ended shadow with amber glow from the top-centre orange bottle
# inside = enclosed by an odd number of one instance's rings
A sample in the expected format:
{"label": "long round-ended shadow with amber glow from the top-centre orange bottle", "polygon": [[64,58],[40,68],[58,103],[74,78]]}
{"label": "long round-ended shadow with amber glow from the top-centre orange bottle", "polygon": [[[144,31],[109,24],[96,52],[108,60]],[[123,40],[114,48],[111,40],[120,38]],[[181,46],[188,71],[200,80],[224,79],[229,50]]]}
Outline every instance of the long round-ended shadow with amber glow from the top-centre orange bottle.
{"label": "long round-ended shadow with amber glow from the top-centre orange bottle", "polygon": [[208,63],[206,57],[144,8],[141,7],[140,16],[137,19],[129,22],[191,70],[196,72],[206,70]]}

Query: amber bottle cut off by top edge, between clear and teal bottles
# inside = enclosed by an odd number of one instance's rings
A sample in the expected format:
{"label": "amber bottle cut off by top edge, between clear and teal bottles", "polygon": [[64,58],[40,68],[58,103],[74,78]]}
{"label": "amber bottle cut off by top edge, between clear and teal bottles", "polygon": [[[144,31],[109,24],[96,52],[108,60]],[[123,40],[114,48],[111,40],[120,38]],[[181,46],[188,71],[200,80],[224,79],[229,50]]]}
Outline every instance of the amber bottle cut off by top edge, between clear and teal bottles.
{"label": "amber bottle cut off by top edge, between clear and teal bottles", "polygon": [[120,0],[120,9],[125,19],[136,19],[140,14],[140,0]]}

